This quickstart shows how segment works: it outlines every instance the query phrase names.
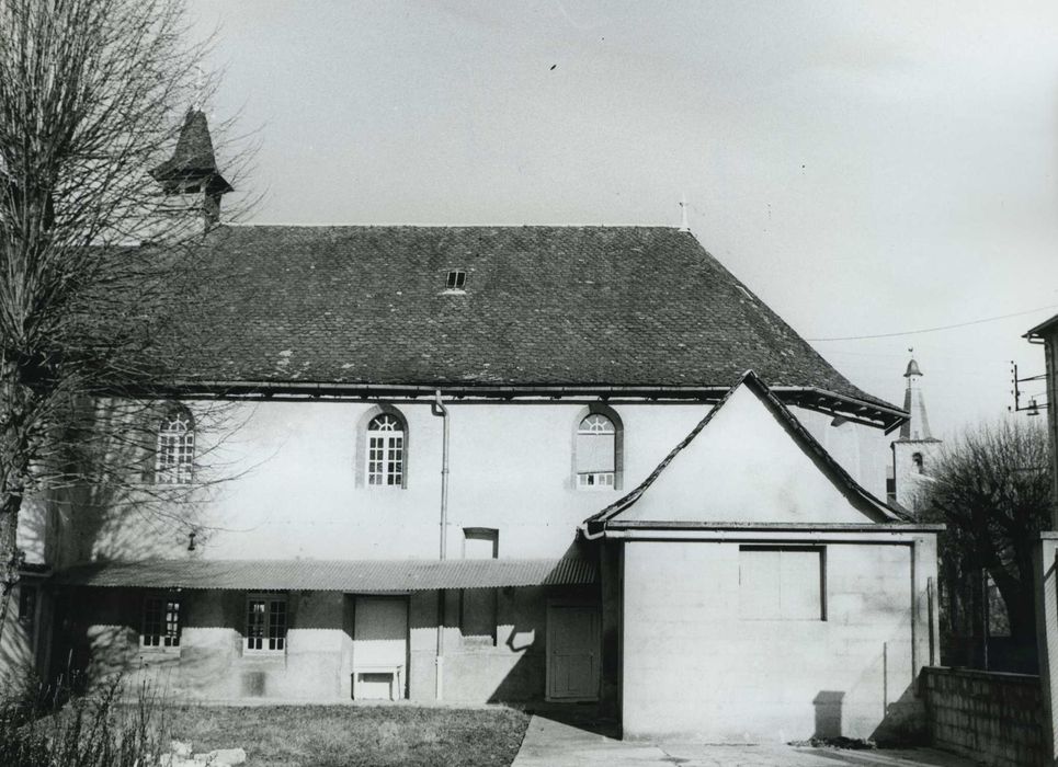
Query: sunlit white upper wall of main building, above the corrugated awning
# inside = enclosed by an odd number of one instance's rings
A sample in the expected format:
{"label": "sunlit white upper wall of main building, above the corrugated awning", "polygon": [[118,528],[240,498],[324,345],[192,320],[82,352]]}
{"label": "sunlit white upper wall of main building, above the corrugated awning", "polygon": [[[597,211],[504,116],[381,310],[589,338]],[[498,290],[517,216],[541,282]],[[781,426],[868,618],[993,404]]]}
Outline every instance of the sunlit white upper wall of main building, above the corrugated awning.
{"label": "sunlit white upper wall of main building, above the corrugated awning", "polygon": [[[224,481],[196,490],[195,503],[126,503],[98,519],[71,513],[66,535],[78,540],[66,547],[68,559],[187,557],[192,527],[194,556],[204,558],[435,558],[441,419],[426,402],[397,407],[409,427],[406,489],[357,485],[357,424],[374,403],[234,403],[224,423],[235,427],[219,444],[217,434],[198,435],[198,477]],[[450,403],[448,556],[460,556],[462,528],[475,526],[500,530],[500,557],[560,556],[578,524],[635,488],[709,411],[701,403],[613,407],[624,423],[623,489],[581,491],[572,482],[572,449],[585,403]],[[862,476],[857,446],[872,430],[834,430],[808,411],[798,416]],[[769,460],[767,451],[759,458]]]}

